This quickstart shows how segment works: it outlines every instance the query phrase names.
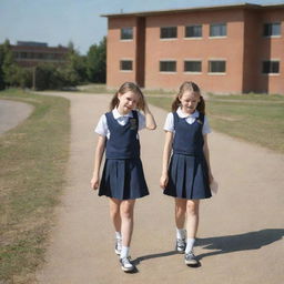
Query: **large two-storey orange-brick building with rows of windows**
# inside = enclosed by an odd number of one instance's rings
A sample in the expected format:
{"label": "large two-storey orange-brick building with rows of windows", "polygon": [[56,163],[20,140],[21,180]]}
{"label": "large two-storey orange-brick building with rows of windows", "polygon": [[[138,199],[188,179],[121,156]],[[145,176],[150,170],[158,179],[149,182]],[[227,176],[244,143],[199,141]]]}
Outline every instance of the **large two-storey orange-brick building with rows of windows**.
{"label": "large two-storey orange-brick building with rows of windows", "polygon": [[284,4],[103,14],[106,84],[284,94]]}

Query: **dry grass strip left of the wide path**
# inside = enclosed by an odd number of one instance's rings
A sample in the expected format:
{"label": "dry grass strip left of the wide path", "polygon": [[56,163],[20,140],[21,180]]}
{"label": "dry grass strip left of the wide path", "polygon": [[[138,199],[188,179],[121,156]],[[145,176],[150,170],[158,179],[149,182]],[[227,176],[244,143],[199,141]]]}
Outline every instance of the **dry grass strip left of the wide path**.
{"label": "dry grass strip left of the wide path", "polygon": [[0,283],[34,283],[69,155],[69,101],[9,90],[0,99],[34,106],[0,136]]}

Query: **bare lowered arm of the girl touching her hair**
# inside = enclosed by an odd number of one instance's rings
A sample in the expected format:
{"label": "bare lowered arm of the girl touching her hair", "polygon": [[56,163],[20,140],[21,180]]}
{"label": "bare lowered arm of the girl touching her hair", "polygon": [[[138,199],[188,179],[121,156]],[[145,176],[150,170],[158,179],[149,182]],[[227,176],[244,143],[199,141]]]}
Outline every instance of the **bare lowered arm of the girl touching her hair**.
{"label": "bare lowered arm of the girl touching her hair", "polygon": [[93,176],[91,180],[91,187],[98,190],[100,183],[100,168],[102,162],[102,156],[104,152],[105,136],[99,135],[98,144],[94,153],[94,166],[93,166]]}

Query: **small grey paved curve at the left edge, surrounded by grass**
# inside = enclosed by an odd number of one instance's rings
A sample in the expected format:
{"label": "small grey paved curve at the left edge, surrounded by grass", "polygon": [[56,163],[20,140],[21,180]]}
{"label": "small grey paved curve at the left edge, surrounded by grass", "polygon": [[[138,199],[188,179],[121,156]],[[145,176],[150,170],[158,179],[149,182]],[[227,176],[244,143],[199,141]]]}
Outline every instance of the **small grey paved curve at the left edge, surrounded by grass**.
{"label": "small grey paved curve at the left edge, surrounded by grass", "polygon": [[26,120],[32,110],[33,106],[24,102],[0,100],[0,134]]}

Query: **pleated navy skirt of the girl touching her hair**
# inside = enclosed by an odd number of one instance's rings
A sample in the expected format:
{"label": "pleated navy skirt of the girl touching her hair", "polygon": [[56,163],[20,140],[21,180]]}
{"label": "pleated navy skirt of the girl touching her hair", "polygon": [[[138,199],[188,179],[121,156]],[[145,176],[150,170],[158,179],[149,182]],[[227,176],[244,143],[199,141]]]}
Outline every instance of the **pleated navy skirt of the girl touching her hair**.
{"label": "pleated navy skirt of the girl touching her hair", "polygon": [[135,200],[149,195],[140,159],[106,159],[102,172],[99,196]]}

